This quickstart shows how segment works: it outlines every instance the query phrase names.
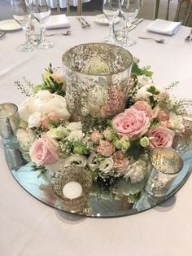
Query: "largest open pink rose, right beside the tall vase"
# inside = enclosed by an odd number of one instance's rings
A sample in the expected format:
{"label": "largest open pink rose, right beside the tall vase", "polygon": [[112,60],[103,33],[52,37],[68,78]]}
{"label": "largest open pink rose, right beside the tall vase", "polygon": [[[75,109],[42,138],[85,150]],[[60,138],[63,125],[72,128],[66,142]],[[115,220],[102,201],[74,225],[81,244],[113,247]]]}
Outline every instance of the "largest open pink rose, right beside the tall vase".
{"label": "largest open pink rose, right beside the tall vase", "polygon": [[125,109],[124,113],[120,113],[112,122],[120,136],[132,139],[144,135],[150,126],[146,113],[135,108]]}

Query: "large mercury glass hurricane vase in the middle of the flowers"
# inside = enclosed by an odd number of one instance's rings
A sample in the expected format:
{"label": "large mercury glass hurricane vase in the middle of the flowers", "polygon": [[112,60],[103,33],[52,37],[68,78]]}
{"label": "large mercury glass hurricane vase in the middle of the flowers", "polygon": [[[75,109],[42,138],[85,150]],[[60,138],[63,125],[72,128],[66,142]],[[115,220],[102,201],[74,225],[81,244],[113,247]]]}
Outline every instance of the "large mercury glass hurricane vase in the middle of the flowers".
{"label": "large mercury glass hurricane vase in the middle of the flowers", "polygon": [[133,56],[107,43],[74,46],[63,54],[68,111],[73,121],[114,117],[124,111]]}

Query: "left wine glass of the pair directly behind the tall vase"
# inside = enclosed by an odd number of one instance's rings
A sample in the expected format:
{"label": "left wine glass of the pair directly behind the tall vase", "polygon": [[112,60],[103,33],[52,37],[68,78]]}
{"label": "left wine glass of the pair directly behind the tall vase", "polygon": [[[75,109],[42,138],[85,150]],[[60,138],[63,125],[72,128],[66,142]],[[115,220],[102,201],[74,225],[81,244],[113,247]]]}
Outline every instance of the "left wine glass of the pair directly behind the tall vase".
{"label": "left wine glass of the pair directly behind the tall vase", "polygon": [[120,13],[120,0],[103,0],[103,13],[109,20],[109,36],[104,42],[114,42],[113,22]]}

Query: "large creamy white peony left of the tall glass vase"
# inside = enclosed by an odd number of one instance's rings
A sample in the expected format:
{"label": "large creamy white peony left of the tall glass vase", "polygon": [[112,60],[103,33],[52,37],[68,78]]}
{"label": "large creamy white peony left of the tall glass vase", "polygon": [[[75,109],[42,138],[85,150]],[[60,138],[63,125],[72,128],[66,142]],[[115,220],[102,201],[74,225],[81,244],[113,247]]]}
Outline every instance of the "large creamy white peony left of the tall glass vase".
{"label": "large creamy white peony left of the tall glass vase", "polygon": [[[56,113],[59,118],[68,120],[66,99],[62,96],[51,94],[49,90],[39,90],[37,94],[31,95],[20,105],[20,118],[28,122],[28,119],[34,113],[41,113],[41,117],[48,113]],[[33,117],[31,117],[33,119]]]}

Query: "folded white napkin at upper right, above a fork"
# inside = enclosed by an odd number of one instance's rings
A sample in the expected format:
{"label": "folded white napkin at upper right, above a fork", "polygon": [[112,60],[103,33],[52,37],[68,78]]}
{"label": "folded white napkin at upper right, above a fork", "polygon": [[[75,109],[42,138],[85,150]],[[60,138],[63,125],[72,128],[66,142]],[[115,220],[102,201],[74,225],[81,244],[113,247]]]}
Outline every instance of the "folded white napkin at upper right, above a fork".
{"label": "folded white napkin at upper right, above a fork", "polygon": [[174,22],[169,20],[154,20],[151,24],[146,27],[146,30],[155,33],[164,33],[172,35],[177,33],[181,27],[181,22]]}

